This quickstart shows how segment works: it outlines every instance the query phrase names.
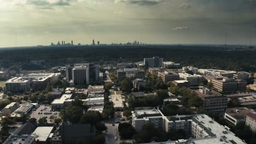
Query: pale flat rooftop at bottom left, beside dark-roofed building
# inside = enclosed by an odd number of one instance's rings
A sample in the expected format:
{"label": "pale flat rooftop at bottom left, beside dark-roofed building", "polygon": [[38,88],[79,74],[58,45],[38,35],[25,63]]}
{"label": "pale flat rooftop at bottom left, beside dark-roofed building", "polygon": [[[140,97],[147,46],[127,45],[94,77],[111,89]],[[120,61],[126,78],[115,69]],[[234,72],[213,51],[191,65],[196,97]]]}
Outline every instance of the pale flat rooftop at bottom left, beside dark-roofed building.
{"label": "pale flat rooftop at bottom left, beside dark-roofed building", "polygon": [[53,127],[37,127],[31,136],[36,137],[36,141],[46,141],[52,130]]}

